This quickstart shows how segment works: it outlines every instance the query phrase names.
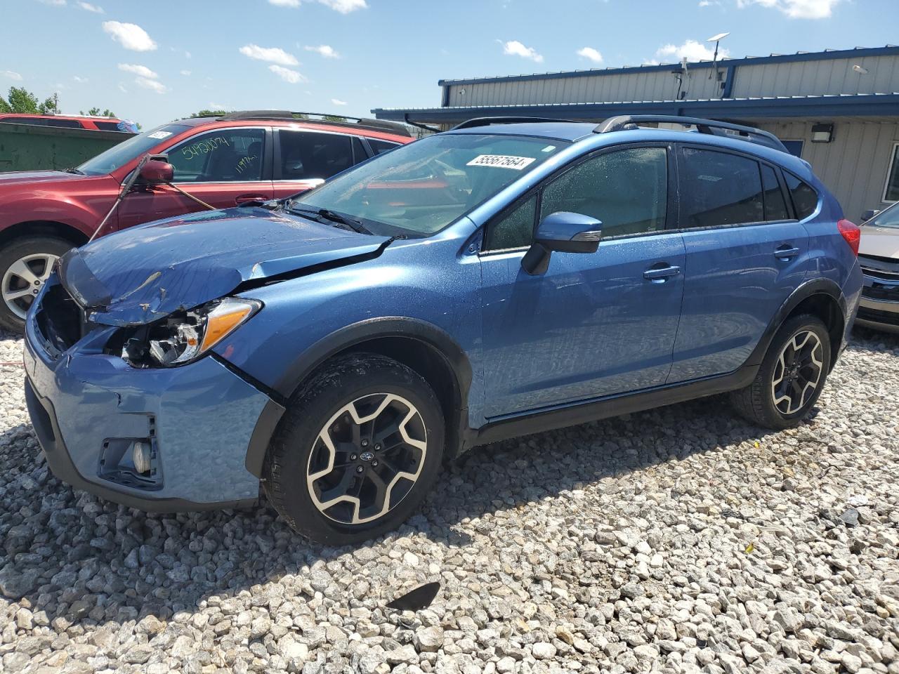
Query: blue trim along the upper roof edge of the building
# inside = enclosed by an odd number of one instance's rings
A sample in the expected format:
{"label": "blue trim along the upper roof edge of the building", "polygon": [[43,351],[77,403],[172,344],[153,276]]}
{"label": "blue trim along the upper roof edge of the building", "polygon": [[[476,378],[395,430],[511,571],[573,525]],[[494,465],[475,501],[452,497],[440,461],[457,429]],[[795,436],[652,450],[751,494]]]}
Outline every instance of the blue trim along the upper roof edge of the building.
{"label": "blue trim along the upper roof edge of the building", "polygon": [[[897,56],[899,55],[899,46],[886,45],[885,47],[856,47],[854,49],[824,49],[823,51],[797,51],[796,54],[771,54],[767,57],[744,57],[744,58],[720,58],[717,61],[717,67],[729,66],[760,66],[766,63],[790,63],[796,61],[825,61],[834,58],[864,58],[877,56]],[[712,61],[700,60],[690,61],[688,67],[709,68],[712,67]],[[679,67],[680,63],[667,63],[658,65],[645,66],[625,66],[625,67],[606,67],[591,68],[587,70],[562,70],[552,73],[531,73],[527,75],[498,75],[492,77],[469,77],[462,79],[438,80],[437,84],[441,86],[458,85],[458,84],[479,84],[479,83],[497,83],[497,82],[522,82],[527,80],[543,80],[543,79],[565,79],[569,77],[595,77],[597,75],[625,75],[630,73],[652,73],[652,72],[668,72],[672,67]]]}

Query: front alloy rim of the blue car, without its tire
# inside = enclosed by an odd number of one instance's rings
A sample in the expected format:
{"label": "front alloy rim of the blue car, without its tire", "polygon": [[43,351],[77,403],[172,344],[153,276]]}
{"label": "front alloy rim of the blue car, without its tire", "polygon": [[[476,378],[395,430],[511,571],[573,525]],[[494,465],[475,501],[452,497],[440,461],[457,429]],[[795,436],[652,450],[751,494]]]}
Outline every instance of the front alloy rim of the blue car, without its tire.
{"label": "front alloy rim of the blue car, without its tire", "polygon": [[426,452],[424,420],[412,403],[394,394],[363,395],[319,431],[307,466],[309,496],[336,522],[378,519],[412,490]]}

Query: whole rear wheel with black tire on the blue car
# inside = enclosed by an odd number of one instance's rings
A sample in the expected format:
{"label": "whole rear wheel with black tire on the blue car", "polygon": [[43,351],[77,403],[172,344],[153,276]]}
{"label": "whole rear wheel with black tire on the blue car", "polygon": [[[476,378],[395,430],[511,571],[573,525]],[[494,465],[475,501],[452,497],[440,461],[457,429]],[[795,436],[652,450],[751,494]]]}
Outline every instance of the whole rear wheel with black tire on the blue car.
{"label": "whole rear wheel with black tire on the blue car", "polygon": [[830,368],[827,327],[817,316],[794,316],[774,335],[752,384],[734,391],[731,402],[758,426],[794,428],[821,395]]}

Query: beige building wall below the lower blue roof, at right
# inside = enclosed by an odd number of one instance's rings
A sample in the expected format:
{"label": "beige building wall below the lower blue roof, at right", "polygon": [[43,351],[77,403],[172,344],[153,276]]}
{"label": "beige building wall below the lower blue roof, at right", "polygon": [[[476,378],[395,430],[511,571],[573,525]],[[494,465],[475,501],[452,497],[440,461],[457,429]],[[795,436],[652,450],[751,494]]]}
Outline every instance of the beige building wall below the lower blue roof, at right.
{"label": "beige building wall below the lower blue roof, at right", "polygon": [[837,122],[830,143],[812,142],[812,122],[758,125],[781,140],[803,140],[802,158],[836,196],[846,217],[859,222],[868,208],[886,208],[886,175],[899,143],[899,122]]}

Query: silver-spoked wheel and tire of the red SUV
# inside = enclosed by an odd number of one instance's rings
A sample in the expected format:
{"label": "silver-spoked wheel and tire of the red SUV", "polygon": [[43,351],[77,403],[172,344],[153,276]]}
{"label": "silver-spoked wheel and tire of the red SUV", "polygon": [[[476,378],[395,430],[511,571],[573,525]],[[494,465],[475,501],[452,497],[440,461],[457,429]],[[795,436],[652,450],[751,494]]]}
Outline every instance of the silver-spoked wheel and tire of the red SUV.
{"label": "silver-spoked wheel and tire of the red SUV", "polygon": [[72,244],[55,236],[16,239],[0,250],[0,326],[22,333],[25,315],[56,261]]}

